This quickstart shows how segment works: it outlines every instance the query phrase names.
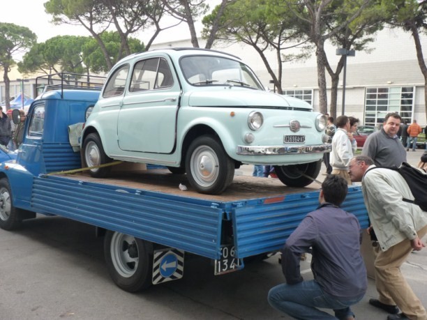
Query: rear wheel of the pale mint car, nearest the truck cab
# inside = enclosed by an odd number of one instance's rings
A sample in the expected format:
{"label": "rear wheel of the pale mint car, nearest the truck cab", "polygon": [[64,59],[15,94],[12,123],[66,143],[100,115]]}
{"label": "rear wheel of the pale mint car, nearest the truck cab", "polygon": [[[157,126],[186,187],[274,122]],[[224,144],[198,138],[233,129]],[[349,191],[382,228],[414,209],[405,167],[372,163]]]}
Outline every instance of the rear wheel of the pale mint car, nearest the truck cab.
{"label": "rear wheel of the pale mint car, nearest the truck cab", "polygon": [[[97,167],[112,162],[112,159],[105,154],[103,143],[97,133],[90,133],[84,139],[83,161],[86,167]],[[90,169],[89,173],[93,178],[104,178],[110,173],[111,167]]]}

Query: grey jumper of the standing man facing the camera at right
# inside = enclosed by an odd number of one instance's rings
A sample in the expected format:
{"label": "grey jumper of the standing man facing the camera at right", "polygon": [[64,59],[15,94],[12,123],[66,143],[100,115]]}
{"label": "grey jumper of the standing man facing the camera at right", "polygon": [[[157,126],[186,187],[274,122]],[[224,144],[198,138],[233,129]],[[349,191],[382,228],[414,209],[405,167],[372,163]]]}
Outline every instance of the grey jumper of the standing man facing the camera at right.
{"label": "grey jumper of the standing man facing the camera at right", "polygon": [[371,158],[378,167],[400,167],[406,162],[406,151],[397,135],[390,137],[384,128],[368,136],[362,155]]}

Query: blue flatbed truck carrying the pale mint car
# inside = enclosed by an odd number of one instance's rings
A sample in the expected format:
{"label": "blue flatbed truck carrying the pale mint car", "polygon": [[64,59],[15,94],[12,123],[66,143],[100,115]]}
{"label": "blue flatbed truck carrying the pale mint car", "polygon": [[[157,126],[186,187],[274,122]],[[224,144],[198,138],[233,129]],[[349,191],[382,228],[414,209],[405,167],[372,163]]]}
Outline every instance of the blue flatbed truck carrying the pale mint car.
{"label": "blue flatbed truck carrying the pale mint car", "polygon": [[[316,183],[289,188],[277,179],[236,176],[223,195],[202,195],[178,188],[188,185],[185,174],[126,163],[108,178],[91,178],[79,170],[81,155],[68,130],[84,123],[99,91],[67,88],[41,93],[25,119],[20,147],[1,148],[0,227],[16,229],[36,213],[93,225],[105,237],[108,271],[123,290],[181,278],[189,254],[212,259],[216,275],[240,270],[246,259],[278,252],[317,207]],[[368,227],[359,187],[349,188],[343,208]]]}

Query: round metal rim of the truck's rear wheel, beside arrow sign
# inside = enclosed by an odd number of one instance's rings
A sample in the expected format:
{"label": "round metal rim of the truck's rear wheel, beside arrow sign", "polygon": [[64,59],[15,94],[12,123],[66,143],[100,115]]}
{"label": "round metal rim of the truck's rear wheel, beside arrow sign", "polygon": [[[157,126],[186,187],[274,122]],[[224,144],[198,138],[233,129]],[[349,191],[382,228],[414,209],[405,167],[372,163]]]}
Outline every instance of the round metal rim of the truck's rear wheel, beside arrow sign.
{"label": "round metal rim of the truck's rear wheel, beside arrow sign", "polygon": [[133,236],[114,232],[110,254],[117,273],[122,277],[131,277],[135,274],[139,263],[138,247]]}

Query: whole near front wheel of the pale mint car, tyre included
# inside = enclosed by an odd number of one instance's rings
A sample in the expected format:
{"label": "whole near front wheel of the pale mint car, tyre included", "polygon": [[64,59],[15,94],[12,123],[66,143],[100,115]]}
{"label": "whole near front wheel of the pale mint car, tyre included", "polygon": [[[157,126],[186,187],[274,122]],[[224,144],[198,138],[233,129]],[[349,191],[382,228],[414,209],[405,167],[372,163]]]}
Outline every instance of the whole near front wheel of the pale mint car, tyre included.
{"label": "whole near front wheel of the pale mint car, tyre included", "polygon": [[220,195],[233,181],[234,160],[217,139],[202,135],[188,147],[186,172],[190,185],[197,192]]}

